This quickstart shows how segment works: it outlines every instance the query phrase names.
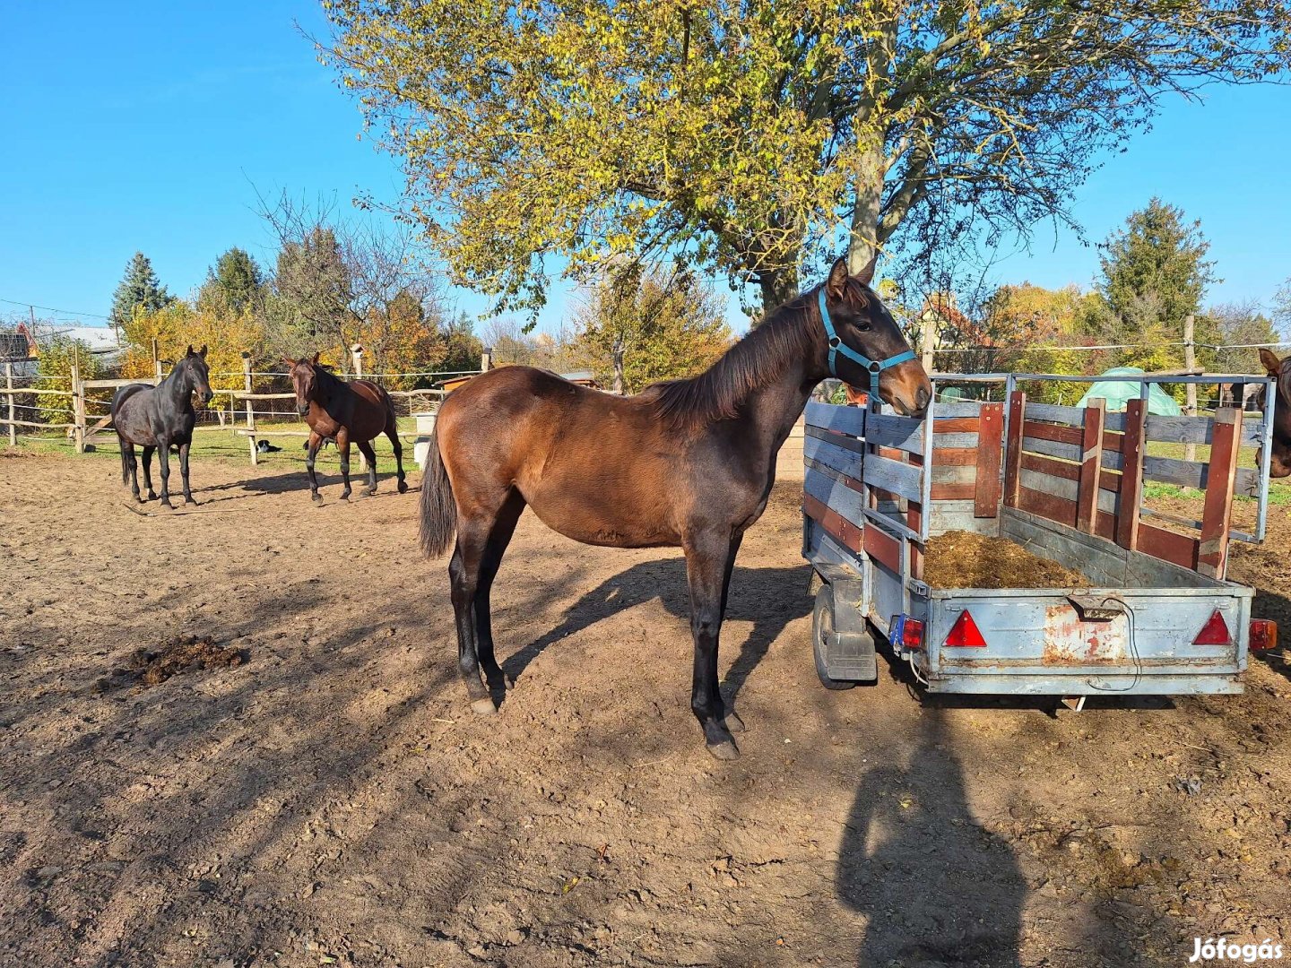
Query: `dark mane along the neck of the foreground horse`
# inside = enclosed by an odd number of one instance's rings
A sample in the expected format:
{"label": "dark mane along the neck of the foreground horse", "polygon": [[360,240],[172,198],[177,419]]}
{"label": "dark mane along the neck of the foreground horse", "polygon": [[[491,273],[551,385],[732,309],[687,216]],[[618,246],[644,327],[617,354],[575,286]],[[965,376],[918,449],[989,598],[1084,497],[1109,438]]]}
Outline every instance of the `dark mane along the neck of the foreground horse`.
{"label": "dark mane along the neck of the foreground horse", "polygon": [[646,387],[639,399],[683,430],[735,417],[749,396],[784,373],[785,363],[812,348],[806,296],[790,299],[698,376]]}

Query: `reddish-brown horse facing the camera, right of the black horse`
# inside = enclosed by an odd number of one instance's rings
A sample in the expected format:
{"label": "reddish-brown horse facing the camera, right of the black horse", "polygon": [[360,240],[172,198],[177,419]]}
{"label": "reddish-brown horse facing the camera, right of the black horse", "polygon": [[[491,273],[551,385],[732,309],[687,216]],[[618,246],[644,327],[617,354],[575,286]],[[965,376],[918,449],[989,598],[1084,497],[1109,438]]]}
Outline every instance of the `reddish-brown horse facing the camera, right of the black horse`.
{"label": "reddish-brown horse facing the camera, right of the black horse", "polygon": [[390,438],[395,452],[395,467],[399,476],[399,493],[408,490],[403,472],[403,444],[399,441],[399,425],[395,419],[395,405],[382,387],[367,379],[345,381],[332,373],[332,368],[319,363],[319,355],[311,360],[283,358],[287,364],[292,387],[296,390],[296,409],[310,425],[310,439],[306,443],[305,467],[310,472],[310,498],[321,501],[319,479],[314,472],[314,459],[323,441],[332,440],[341,454],[341,479],[345,489],[341,499],[350,499],[350,444],[354,443],[368,459],[368,487],[364,494],[377,493],[377,452],[372,441],[380,434]]}

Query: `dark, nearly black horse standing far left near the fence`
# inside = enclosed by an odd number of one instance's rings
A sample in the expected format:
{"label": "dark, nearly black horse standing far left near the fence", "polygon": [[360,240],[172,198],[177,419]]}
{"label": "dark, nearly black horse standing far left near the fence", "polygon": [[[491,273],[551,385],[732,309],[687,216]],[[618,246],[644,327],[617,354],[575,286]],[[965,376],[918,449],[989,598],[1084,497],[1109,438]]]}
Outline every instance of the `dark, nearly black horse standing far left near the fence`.
{"label": "dark, nearly black horse standing far left near the fence", "polygon": [[139,497],[139,472],[134,448],[143,448],[143,485],[147,499],[154,501],[152,452],[158,452],[161,465],[161,506],[170,503],[170,448],[179,449],[179,476],[183,480],[183,503],[195,505],[188,489],[188,448],[192,447],[192,427],[198,422],[192,409],[194,391],[203,403],[210,403],[210,370],[207,369],[207,347],[194,352],[192,345],[174,369],[156,386],[129,383],[112,396],[112,427],[121,445],[121,483],[130,485],[136,501]]}

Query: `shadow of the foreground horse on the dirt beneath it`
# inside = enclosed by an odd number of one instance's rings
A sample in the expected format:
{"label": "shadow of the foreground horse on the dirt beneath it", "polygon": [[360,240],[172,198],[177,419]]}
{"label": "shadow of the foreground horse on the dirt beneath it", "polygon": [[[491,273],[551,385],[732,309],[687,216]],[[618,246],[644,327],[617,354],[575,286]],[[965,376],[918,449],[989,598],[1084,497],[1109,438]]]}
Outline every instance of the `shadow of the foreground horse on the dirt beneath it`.
{"label": "shadow of the foreground horse on the dirt beneath it", "polygon": [[[800,594],[807,587],[809,570],[806,564],[793,568],[736,565],[731,576],[723,629],[728,629],[732,621],[753,622],[753,629],[740,643],[740,653],[722,681],[722,691],[728,703],[735,701],[749,675],[785,626],[811,612],[811,599]],[[602,618],[653,599],[658,599],[669,614],[689,621],[691,604],[684,559],[643,561],[602,582],[565,609],[560,625],[503,660],[502,671],[518,680],[547,647],[591,627]],[[724,631],[723,636],[724,644],[729,648],[732,644],[729,632]]]}

